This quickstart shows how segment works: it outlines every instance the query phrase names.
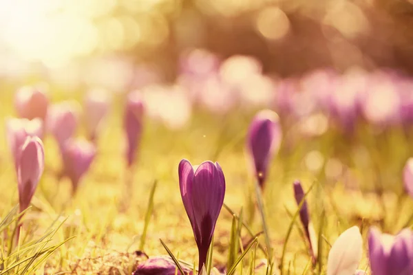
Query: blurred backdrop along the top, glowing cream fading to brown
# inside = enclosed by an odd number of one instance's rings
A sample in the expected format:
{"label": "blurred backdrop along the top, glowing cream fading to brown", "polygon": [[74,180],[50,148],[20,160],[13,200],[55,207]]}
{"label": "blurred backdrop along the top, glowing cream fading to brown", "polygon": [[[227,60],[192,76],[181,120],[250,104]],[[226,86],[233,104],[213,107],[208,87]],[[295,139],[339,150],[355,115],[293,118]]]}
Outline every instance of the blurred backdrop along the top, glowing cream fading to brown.
{"label": "blurred backdrop along the top, glowing cream fading to brown", "polygon": [[174,80],[194,48],[282,77],[411,73],[412,28],[411,0],[0,0],[0,76],[124,91]]}

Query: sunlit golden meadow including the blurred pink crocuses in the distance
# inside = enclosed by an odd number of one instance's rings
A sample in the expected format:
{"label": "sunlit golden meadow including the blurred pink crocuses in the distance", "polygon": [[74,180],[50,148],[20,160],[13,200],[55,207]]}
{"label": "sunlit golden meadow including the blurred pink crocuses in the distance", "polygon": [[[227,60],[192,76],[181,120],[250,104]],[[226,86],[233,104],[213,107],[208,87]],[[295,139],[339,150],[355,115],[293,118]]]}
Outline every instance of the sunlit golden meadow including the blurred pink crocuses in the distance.
{"label": "sunlit golden meadow including the blurred pink crocuses in the distance", "polygon": [[[363,240],[356,269],[371,274],[369,230],[397,234],[413,225],[408,192],[413,182],[403,177],[407,159],[413,156],[412,80],[385,69],[346,74],[320,70],[294,79],[272,79],[253,72],[248,58],[232,67],[230,76],[238,76],[237,66],[246,67],[244,75],[212,87],[206,79],[215,79],[211,75],[216,72],[204,74],[189,67],[181,73],[185,81],[137,91],[143,106],[142,138],[130,166],[125,157],[127,93],[111,94],[109,111],[94,138],[96,155],[76,192],[70,177],[62,173],[65,163],[56,135],[45,126],[44,172],[21,217],[17,242],[19,190],[6,118],[19,116],[14,102],[20,87],[4,82],[0,274],[132,274],[148,257],[168,257],[160,240],[184,262],[181,265],[198,267],[197,245],[180,194],[181,159],[193,165],[218,162],[224,173],[224,206],[207,260],[211,274],[229,272],[237,259],[233,274],[355,274],[355,269],[328,270],[334,265],[328,263],[332,245],[354,225]],[[244,78],[251,72],[253,77]],[[271,88],[260,94],[268,79]],[[85,123],[95,110],[85,105],[87,93],[67,93],[52,85],[47,90],[49,109],[65,100],[78,102],[73,137],[88,138]],[[248,127],[262,109],[277,112],[276,124],[282,130],[260,189],[247,144]],[[66,127],[61,125],[59,131]],[[310,241],[300,221],[304,203],[295,197],[296,180],[306,192],[314,226]],[[351,243],[337,248],[337,266],[359,251],[346,248],[353,249]],[[413,262],[413,253],[408,253]],[[141,270],[136,275],[180,274],[173,262],[167,263],[173,273]]]}

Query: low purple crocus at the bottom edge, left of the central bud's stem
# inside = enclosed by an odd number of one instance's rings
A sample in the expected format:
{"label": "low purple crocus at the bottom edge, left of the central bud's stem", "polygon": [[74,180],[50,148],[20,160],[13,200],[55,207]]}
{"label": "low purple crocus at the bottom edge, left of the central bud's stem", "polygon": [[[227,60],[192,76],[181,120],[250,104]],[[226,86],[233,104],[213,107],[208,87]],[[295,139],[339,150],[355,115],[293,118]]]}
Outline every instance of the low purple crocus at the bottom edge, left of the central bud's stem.
{"label": "low purple crocus at the bottom edge, left of the central bud's stem", "polygon": [[192,270],[186,265],[181,265],[181,267],[185,274],[181,274],[180,271],[177,270],[171,258],[167,256],[156,256],[140,263],[132,275],[175,275],[176,271],[178,275],[192,274]]}

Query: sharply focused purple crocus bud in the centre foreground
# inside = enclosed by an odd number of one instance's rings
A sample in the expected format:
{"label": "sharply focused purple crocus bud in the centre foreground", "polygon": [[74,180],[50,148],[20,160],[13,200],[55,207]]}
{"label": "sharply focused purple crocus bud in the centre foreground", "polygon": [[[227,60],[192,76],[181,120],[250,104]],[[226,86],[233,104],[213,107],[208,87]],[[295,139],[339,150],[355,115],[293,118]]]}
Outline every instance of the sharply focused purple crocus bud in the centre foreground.
{"label": "sharply focused purple crocus bud in the centre foreground", "polygon": [[178,175],[182,202],[198,246],[198,270],[201,270],[224,203],[224,173],[218,162],[202,162],[195,168],[187,159],[182,159]]}

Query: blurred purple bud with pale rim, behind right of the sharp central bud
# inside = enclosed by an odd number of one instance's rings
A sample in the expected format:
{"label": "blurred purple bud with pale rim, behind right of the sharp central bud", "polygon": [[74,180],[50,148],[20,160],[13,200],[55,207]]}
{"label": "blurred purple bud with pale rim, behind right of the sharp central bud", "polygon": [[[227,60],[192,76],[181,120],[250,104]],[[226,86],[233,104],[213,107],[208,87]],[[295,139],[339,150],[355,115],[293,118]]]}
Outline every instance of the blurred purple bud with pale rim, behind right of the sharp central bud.
{"label": "blurred purple bud with pale rim, behind right of the sharp central bud", "polygon": [[268,165],[278,152],[282,140],[282,130],[277,113],[270,110],[255,115],[248,129],[246,148],[255,166],[255,176],[261,188],[267,177]]}

